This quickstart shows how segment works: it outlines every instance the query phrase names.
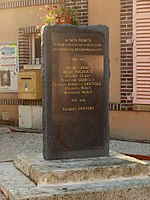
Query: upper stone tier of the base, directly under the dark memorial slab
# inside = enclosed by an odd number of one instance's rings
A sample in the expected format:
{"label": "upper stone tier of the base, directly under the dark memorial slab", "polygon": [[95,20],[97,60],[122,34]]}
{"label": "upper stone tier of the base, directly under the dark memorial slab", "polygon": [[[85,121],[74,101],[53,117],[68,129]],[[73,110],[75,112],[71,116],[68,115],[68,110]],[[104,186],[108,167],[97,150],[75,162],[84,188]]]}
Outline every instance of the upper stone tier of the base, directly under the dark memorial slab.
{"label": "upper stone tier of the base, directly under the dark memorial slab", "polygon": [[110,157],[45,161],[42,154],[21,154],[15,166],[38,186],[148,175],[148,164],[122,154]]}

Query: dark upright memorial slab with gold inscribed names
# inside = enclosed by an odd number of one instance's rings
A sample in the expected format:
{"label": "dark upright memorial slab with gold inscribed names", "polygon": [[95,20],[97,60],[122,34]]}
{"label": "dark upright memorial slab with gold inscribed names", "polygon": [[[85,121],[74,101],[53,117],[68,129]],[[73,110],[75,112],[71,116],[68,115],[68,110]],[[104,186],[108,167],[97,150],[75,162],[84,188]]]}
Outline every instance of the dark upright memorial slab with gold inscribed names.
{"label": "dark upright memorial slab with gold inscribed names", "polygon": [[44,158],[108,155],[108,28],[45,27],[42,77]]}

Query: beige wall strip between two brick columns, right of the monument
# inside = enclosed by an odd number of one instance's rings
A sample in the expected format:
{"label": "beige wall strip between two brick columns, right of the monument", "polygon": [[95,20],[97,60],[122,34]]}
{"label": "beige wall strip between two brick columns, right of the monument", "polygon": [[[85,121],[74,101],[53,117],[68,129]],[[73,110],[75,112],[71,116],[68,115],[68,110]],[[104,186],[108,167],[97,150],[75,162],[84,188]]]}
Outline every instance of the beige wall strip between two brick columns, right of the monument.
{"label": "beige wall strip between two brick columns, right of the monument", "polygon": [[110,30],[110,102],[120,103],[120,0],[89,0],[89,25]]}

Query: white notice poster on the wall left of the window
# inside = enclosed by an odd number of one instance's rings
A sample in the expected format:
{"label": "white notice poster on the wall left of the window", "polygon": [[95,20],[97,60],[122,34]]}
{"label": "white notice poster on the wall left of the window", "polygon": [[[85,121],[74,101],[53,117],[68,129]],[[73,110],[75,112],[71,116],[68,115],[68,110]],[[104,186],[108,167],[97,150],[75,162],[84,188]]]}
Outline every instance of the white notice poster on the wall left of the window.
{"label": "white notice poster on the wall left of the window", "polygon": [[0,44],[0,92],[18,91],[17,42]]}

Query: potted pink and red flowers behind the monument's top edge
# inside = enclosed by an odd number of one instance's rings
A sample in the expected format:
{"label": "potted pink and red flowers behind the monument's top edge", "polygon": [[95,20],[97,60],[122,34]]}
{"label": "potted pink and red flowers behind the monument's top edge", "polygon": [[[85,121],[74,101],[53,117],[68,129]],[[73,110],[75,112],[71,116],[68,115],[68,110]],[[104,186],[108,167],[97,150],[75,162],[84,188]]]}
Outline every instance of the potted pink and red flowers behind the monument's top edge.
{"label": "potted pink and red flowers behind the monument's top edge", "polygon": [[77,8],[46,6],[46,15],[42,19],[45,25],[73,24],[80,25]]}

